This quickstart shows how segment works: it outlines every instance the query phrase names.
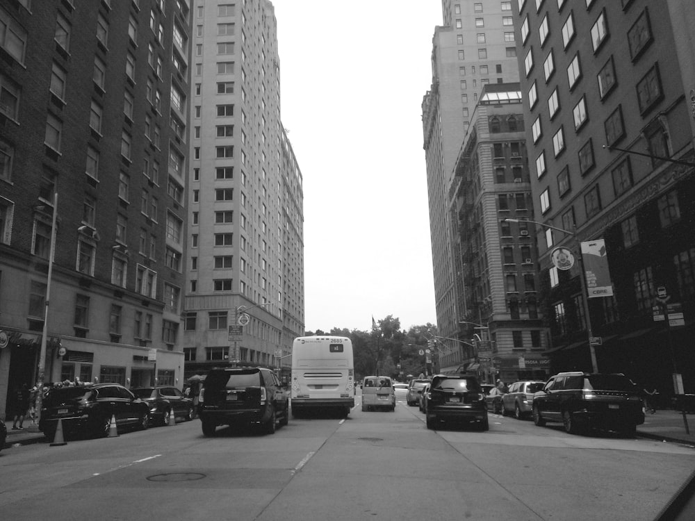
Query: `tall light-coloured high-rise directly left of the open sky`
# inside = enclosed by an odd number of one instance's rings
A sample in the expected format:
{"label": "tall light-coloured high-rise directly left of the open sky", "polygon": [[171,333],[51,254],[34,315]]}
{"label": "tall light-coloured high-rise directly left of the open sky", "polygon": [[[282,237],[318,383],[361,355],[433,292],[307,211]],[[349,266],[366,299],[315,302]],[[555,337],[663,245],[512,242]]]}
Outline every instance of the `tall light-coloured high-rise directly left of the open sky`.
{"label": "tall light-coloured high-rise directly left of the open sky", "polygon": [[184,352],[285,367],[304,333],[302,174],[280,117],[270,1],[195,1]]}

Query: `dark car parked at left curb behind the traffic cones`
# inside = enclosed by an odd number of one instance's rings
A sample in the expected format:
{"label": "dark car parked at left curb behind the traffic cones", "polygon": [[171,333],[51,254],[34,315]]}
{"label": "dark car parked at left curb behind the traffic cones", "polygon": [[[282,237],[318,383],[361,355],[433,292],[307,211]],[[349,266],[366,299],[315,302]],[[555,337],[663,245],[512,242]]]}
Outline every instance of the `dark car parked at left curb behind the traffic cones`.
{"label": "dark car parked at left curb behind the traffic cones", "polygon": [[39,429],[53,439],[62,420],[63,436],[107,436],[111,419],[116,429],[149,427],[149,405],[118,383],[97,383],[44,392]]}

